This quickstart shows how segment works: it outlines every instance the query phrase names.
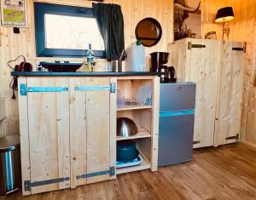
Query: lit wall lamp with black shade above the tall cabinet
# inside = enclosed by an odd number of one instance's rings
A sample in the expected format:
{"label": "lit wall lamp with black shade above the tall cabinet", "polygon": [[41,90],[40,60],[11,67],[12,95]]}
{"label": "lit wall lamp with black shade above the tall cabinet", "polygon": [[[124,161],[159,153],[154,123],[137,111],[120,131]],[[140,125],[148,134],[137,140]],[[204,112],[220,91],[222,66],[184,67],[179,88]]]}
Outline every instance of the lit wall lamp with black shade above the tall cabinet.
{"label": "lit wall lamp with black shade above the tall cabinet", "polygon": [[[224,39],[224,26],[227,21],[234,20],[234,12],[232,7],[224,7],[222,9],[218,9],[218,12],[216,14],[215,22],[217,23],[222,23],[223,22],[223,29],[222,29],[222,39]],[[229,39],[229,34],[230,34],[230,28],[229,25],[227,24],[227,33],[228,39]]]}

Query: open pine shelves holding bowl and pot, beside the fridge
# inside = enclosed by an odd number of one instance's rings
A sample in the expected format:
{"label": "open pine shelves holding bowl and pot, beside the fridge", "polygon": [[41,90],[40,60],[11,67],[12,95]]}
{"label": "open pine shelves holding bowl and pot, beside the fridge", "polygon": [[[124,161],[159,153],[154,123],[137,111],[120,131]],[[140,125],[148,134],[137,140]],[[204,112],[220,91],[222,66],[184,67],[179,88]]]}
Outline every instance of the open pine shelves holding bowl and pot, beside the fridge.
{"label": "open pine shelves holding bowl and pot, beside the fridge", "polygon": [[[121,77],[117,78],[117,90],[118,98],[123,100],[137,100],[137,91],[141,89],[142,86],[150,85],[152,88],[152,105],[144,105],[142,102],[137,105],[125,106],[117,104],[117,118],[118,117],[128,117],[131,118],[133,122],[137,124],[138,133],[130,137],[117,136],[116,141],[119,140],[134,140],[136,142],[137,150],[141,157],[143,157],[143,163],[137,166],[125,167],[121,169],[116,169],[116,174],[124,174],[129,172],[134,172],[143,169],[151,169],[155,171],[157,169],[157,162],[155,160],[157,153],[153,151],[158,151],[158,138],[155,137],[154,126],[152,125],[155,120],[154,107],[154,82],[159,83],[159,79],[155,77],[143,77],[139,79],[138,77],[133,79],[133,77]],[[157,111],[158,112],[158,111]],[[157,116],[158,120],[158,116]],[[158,121],[155,124],[158,126]]]}

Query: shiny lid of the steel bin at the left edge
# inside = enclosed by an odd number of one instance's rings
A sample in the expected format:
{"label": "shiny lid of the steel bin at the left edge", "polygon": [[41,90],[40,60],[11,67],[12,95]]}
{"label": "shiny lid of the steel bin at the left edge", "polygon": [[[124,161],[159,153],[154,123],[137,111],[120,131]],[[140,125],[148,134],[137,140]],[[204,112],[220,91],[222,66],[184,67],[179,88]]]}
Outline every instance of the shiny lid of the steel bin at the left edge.
{"label": "shiny lid of the steel bin at the left edge", "polygon": [[12,151],[20,147],[20,136],[9,135],[0,138],[0,152]]}

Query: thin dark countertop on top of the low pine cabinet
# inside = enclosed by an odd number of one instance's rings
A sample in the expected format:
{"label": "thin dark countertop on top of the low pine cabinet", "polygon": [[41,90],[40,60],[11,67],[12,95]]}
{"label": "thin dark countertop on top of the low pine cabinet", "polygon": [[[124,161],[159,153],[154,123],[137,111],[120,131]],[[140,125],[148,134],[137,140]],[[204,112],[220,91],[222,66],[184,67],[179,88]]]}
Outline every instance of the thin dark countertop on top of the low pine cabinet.
{"label": "thin dark countertop on top of the low pine cabinet", "polygon": [[122,77],[122,76],[157,76],[157,72],[151,71],[131,71],[131,72],[111,72],[111,71],[93,71],[93,72],[49,72],[49,71],[12,71],[11,76],[20,77]]}

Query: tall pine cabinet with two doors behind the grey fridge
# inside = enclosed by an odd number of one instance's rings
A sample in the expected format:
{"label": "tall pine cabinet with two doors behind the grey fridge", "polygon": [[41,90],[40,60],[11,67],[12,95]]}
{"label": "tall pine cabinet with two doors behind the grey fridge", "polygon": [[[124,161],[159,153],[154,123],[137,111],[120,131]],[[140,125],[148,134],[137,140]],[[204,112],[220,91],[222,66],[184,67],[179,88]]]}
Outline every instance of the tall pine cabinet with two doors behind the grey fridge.
{"label": "tall pine cabinet with two doors behind the grey fridge", "polygon": [[194,147],[238,139],[246,43],[186,38],[168,45],[177,81],[196,83]]}

